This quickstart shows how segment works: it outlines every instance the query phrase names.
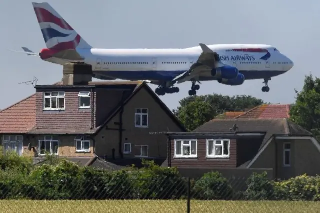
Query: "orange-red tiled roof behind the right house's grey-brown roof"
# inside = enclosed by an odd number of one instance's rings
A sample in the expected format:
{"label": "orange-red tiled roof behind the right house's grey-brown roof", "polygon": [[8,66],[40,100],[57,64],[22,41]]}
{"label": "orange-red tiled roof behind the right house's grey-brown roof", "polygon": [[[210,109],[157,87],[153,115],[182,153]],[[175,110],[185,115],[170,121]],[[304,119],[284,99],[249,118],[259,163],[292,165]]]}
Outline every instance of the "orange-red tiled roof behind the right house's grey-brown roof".
{"label": "orange-red tiled roof behind the right house's grey-brown roof", "polygon": [[234,118],[289,118],[289,104],[262,104]]}

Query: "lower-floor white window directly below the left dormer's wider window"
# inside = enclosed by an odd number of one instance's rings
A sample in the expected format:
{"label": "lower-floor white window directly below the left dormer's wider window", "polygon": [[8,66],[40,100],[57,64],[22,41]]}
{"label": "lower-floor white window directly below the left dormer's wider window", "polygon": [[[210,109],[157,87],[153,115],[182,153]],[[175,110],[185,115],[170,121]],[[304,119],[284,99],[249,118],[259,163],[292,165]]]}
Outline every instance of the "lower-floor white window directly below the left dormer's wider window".
{"label": "lower-floor white window directly below the left dormer's wider window", "polygon": [[59,140],[55,135],[40,135],[38,137],[38,150],[40,155],[57,155],[59,149]]}

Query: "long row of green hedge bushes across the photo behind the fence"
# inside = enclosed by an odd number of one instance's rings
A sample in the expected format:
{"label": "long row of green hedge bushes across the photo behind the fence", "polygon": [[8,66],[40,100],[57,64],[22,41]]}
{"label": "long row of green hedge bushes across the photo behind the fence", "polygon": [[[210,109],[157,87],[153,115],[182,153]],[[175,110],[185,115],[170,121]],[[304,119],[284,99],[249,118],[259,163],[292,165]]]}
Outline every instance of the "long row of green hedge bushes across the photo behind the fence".
{"label": "long row of green hedge bushes across the photo behind the fence", "polygon": [[[33,166],[14,153],[0,154],[0,199],[184,199],[188,180],[176,168],[144,161],[134,167],[109,172],[79,167],[73,162],[48,157],[48,164]],[[240,178],[242,179],[242,178]],[[234,180],[233,180],[234,181]],[[218,172],[209,172],[190,182],[192,199],[320,200],[320,176],[306,175],[286,181],[270,181],[266,172],[253,173],[244,192],[234,192]]]}

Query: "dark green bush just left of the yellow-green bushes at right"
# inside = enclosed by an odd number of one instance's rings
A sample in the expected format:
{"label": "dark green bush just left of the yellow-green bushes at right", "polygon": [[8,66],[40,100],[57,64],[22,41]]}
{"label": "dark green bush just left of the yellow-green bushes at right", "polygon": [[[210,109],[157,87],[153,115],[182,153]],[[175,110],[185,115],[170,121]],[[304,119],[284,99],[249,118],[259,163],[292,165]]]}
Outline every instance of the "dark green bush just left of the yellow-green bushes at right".
{"label": "dark green bush just left of the yellow-green bushes at right", "polygon": [[248,200],[266,200],[273,198],[274,186],[267,178],[267,173],[253,173],[246,181],[244,198]]}

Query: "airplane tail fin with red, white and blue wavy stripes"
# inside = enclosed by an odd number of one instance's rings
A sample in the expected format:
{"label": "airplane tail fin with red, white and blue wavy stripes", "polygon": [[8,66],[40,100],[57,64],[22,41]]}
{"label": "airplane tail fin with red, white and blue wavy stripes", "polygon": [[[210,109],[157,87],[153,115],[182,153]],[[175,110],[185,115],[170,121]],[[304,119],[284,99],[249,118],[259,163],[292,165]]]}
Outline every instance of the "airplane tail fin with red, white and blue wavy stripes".
{"label": "airplane tail fin with red, white and blue wavy stripes", "polygon": [[42,35],[49,49],[90,49],[81,36],[46,2],[32,2]]}

